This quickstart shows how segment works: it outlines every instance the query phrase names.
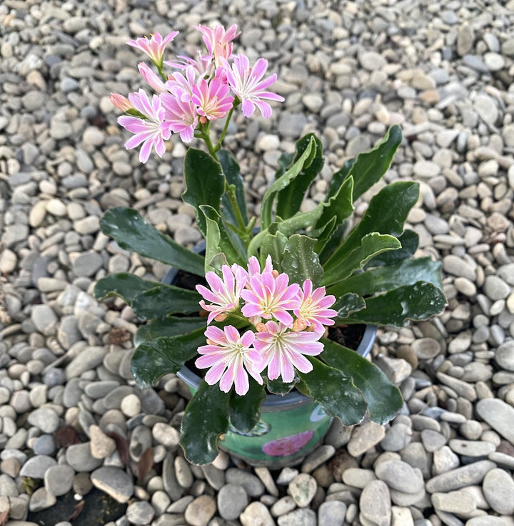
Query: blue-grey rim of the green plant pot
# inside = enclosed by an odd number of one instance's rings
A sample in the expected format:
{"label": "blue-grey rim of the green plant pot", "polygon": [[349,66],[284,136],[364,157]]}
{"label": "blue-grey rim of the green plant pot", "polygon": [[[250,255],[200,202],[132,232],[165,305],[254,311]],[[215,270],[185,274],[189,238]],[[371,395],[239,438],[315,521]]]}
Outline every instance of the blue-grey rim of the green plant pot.
{"label": "blue-grey rim of the green plant pot", "polygon": [[[364,330],[361,343],[358,345],[356,352],[361,356],[366,357],[373,347],[375,341],[377,326],[376,325],[366,325]],[[196,373],[193,373],[191,369],[184,366],[177,373],[178,378],[185,381],[189,387],[198,389],[200,386],[201,378]],[[282,411],[284,408],[294,408],[298,406],[303,406],[306,403],[311,403],[313,401],[309,396],[305,396],[298,391],[291,391],[284,396],[276,394],[268,394],[266,400],[263,401],[261,406],[261,411],[263,413],[272,413],[274,411]]]}

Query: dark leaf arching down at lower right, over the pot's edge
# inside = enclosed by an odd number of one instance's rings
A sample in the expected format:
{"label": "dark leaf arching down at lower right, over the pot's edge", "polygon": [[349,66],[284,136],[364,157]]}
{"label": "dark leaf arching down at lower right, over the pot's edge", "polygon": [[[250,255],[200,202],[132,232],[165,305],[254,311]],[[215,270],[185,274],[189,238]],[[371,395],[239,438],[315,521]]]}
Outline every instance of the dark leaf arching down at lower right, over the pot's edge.
{"label": "dark leaf arching down at lower right, over the pot's edge", "polygon": [[344,371],[353,378],[353,383],[363,393],[368,403],[368,415],[373,422],[384,424],[390,421],[403,405],[400,391],[373,363],[356,351],[322,339],[325,349],[320,357],[329,366]]}

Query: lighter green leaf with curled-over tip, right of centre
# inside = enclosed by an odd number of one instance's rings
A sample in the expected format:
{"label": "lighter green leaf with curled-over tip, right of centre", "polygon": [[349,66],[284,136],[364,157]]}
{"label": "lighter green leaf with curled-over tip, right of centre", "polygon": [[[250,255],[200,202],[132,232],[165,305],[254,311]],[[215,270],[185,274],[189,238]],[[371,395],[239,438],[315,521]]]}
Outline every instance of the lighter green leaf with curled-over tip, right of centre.
{"label": "lighter green leaf with curled-over tip, right of centre", "polygon": [[325,264],[325,272],[321,278],[322,285],[331,285],[351,276],[353,272],[361,270],[374,256],[386,250],[395,250],[401,247],[400,242],[388,234],[372,232],[361,239],[360,246],[350,253],[341,254],[340,259],[331,257]]}

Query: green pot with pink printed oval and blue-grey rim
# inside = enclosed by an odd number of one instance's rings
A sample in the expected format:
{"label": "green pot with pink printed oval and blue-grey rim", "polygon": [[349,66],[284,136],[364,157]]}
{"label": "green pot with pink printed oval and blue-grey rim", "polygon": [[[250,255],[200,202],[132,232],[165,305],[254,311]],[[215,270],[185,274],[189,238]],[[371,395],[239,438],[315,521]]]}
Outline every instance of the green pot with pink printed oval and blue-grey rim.
{"label": "green pot with pink printed oval and blue-grey rim", "polygon": [[[366,326],[356,352],[366,356],[375,336],[376,326]],[[186,367],[177,374],[195,393],[201,378]],[[298,391],[284,396],[269,394],[257,425],[248,433],[230,426],[218,446],[250,465],[283,468],[300,463],[321,442],[331,422],[319,403]]]}

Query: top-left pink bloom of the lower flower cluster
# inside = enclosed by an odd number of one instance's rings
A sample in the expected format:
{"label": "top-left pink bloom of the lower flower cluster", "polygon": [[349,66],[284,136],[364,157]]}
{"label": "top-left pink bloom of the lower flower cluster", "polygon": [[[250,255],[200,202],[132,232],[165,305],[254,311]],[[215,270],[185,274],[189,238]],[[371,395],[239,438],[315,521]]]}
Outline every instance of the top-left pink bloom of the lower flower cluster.
{"label": "top-left pink bloom of the lower flower cluster", "polygon": [[221,273],[223,279],[218,277],[215,272],[207,272],[206,280],[211,289],[203,285],[196,285],[196,290],[203,298],[211,301],[209,305],[203,300],[200,301],[201,308],[210,313],[207,324],[210,324],[220,314],[238,309],[241,291],[246,284],[245,272],[237,264],[233,264],[232,268],[223,265]]}

